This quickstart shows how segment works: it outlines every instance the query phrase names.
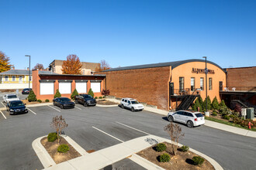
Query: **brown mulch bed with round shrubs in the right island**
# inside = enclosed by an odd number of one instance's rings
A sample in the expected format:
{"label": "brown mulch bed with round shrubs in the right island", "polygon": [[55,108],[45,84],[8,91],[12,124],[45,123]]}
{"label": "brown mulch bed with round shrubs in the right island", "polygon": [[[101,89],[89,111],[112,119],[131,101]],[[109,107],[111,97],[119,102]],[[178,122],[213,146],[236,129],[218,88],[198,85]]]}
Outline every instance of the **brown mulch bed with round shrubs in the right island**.
{"label": "brown mulch bed with round shrubs in the right island", "polygon": [[[171,152],[171,144],[167,142],[164,142],[164,144],[167,146],[167,151],[157,152],[154,150],[153,146],[138,152],[137,155],[140,155],[148,161],[153,162],[154,164],[165,169],[214,170],[213,165],[206,161],[206,159],[201,166],[193,165],[192,158],[198,155],[191,151],[177,151],[177,155],[169,154],[168,152]],[[171,156],[170,162],[158,162],[157,157],[159,155],[163,155],[164,153]]]}

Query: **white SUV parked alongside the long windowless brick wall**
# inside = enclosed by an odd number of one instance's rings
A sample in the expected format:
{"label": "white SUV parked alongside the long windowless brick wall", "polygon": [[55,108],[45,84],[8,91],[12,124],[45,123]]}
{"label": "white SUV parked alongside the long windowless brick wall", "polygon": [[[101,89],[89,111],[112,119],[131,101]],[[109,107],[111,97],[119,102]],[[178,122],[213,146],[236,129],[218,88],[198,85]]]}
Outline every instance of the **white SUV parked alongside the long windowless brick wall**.
{"label": "white SUV parked alongside the long windowless brick wall", "polygon": [[144,110],[144,106],[140,104],[137,100],[132,98],[123,98],[121,100],[121,107],[122,108],[128,108],[132,110],[133,112],[135,110]]}

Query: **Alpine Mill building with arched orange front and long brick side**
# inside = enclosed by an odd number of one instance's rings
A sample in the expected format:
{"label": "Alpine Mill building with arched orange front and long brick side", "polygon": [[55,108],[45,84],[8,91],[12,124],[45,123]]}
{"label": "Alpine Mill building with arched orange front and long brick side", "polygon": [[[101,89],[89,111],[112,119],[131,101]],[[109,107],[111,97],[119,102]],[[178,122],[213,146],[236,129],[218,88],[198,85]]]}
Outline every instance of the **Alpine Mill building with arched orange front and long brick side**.
{"label": "Alpine Mill building with arched orange front and long brick side", "polygon": [[[115,97],[132,97],[162,110],[176,109],[185,100],[206,97],[205,60],[188,59],[169,63],[126,66],[105,70],[106,89]],[[208,95],[220,100],[226,73],[216,63],[207,62]]]}

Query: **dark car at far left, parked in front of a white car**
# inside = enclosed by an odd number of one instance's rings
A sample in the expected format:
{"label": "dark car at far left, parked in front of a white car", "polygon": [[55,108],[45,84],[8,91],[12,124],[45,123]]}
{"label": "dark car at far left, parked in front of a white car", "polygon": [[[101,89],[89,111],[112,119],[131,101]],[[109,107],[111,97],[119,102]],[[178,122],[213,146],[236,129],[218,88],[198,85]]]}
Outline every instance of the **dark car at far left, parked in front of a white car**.
{"label": "dark car at far left, parked in front of a white car", "polygon": [[13,100],[10,101],[6,105],[6,110],[9,111],[9,114],[22,114],[22,113],[28,113],[28,110],[23,104],[21,100]]}

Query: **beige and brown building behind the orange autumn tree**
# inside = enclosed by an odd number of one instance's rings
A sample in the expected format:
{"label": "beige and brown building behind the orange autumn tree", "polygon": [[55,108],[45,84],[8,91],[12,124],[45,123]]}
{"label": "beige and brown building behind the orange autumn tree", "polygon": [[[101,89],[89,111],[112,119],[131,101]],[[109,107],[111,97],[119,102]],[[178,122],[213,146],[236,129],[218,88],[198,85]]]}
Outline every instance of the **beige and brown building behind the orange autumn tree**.
{"label": "beige and brown building behind the orange autumn tree", "polygon": [[[49,65],[49,69],[54,73],[62,74],[61,68],[64,60],[54,59],[52,63]],[[88,63],[81,62],[81,72],[83,75],[90,75],[95,72],[95,69],[100,66],[100,63]]]}

